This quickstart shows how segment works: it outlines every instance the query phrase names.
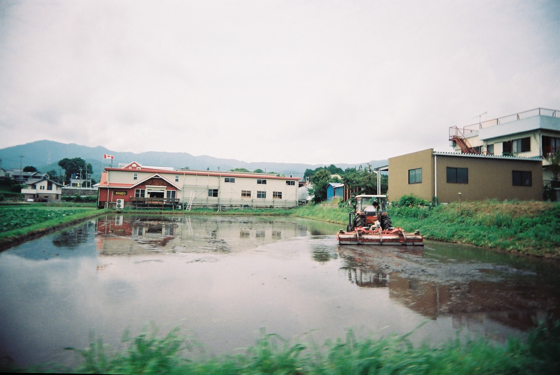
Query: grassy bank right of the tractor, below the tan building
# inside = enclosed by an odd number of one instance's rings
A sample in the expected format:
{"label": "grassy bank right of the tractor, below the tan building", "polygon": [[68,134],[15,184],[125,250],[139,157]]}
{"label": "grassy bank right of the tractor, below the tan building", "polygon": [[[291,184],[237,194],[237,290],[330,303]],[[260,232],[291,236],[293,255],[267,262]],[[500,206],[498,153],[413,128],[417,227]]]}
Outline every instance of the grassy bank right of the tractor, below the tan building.
{"label": "grassy bank right of the tractor, below the tan building", "polygon": [[437,207],[392,207],[393,226],[433,240],[560,257],[560,203],[475,201]]}

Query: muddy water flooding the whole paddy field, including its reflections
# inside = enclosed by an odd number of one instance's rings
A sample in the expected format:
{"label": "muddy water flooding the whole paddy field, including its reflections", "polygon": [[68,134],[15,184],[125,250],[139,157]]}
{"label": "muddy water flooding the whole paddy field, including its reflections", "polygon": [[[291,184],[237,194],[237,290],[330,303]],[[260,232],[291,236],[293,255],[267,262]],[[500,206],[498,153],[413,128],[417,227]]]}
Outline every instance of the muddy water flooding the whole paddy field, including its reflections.
{"label": "muddy water flooding the whole paddy field, including its reflections", "polygon": [[[153,322],[221,353],[260,327],[322,343],[352,327],[440,343],[497,341],[559,312],[558,262],[426,242],[339,246],[338,224],[282,217],[112,215],[0,254],[0,356],[71,362]],[[310,332],[306,334],[306,332]]]}

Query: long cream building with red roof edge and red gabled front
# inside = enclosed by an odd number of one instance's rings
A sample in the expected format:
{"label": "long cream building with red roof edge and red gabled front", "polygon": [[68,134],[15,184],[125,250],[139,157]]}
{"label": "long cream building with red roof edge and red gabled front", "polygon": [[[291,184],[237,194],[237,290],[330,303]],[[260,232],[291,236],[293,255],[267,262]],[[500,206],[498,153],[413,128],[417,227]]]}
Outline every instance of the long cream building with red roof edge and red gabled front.
{"label": "long cream building with red roof edge and red gabled front", "polygon": [[297,206],[298,177],[271,174],[171,170],[132,162],[105,168],[99,183],[99,206],[290,208]]}

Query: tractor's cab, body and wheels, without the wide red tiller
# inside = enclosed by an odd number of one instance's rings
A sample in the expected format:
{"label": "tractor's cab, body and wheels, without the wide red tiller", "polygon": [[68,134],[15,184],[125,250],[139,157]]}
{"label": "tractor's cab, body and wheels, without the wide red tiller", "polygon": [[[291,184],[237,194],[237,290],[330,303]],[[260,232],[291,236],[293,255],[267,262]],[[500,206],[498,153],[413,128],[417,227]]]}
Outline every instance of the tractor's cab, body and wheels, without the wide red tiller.
{"label": "tractor's cab, body and wheels, without the wide red tiller", "polygon": [[393,229],[391,218],[387,214],[385,195],[357,195],[352,198],[354,212],[348,214],[348,232],[354,228],[376,228],[379,224],[381,229]]}

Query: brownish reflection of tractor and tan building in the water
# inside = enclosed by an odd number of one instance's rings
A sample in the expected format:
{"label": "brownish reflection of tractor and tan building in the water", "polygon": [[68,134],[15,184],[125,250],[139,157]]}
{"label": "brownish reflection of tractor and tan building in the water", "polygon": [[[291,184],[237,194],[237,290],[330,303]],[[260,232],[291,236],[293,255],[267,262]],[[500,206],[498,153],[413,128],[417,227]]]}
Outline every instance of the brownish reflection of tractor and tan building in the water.
{"label": "brownish reflection of tractor and tan building in the water", "polygon": [[[529,329],[533,318],[543,317],[550,306],[558,305],[558,297],[553,298],[556,302],[551,301],[552,296],[545,292],[535,298],[538,291],[521,281],[504,283],[459,277],[437,280],[437,276],[433,277],[437,270],[428,270],[426,264],[414,267],[413,257],[404,259],[398,252],[384,250],[339,247],[340,256],[346,261],[342,270],[348,272],[348,280],[359,287],[387,287],[394,301],[429,318],[451,316],[456,328],[467,326],[503,341],[508,332]],[[388,272],[389,269],[393,271]],[[494,335],[496,331],[501,334]]]}

